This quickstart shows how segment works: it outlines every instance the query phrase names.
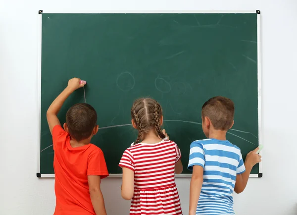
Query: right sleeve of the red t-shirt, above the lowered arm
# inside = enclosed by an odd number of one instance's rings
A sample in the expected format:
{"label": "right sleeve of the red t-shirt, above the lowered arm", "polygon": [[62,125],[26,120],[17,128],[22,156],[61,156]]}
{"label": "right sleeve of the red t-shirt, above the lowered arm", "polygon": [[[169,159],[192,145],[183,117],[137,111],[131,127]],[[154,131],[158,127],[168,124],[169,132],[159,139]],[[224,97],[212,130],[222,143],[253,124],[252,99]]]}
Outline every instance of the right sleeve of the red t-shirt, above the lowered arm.
{"label": "right sleeve of the red t-shirt, above the lowered arm", "polygon": [[102,178],[108,176],[107,166],[104,159],[103,152],[98,150],[97,152],[90,155],[88,159],[88,175],[99,175]]}

